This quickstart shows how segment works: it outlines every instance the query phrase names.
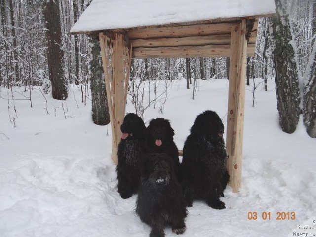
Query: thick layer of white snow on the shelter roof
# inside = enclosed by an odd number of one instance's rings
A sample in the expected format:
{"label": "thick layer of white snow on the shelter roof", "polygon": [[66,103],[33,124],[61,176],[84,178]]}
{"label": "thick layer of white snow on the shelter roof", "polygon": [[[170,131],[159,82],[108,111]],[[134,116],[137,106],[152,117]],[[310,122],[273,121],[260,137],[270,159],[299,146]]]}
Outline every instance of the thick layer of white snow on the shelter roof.
{"label": "thick layer of white snow on the shelter roof", "polygon": [[275,13],[274,0],[93,0],[71,32]]}

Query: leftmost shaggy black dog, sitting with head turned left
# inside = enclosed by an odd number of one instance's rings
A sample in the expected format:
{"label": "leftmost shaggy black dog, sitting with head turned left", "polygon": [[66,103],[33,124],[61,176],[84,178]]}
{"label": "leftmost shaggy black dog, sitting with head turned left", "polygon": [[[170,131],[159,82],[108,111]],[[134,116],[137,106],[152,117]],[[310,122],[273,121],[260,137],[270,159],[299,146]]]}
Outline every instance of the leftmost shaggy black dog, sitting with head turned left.
{"label": "leftmost shaggy black dog, sitting with head turned left", "polygon": [[140,159],[145,146],[146,126],[141,118],[130,113],[120,126],[122,138],[118,144],[118,193],[126,199],[137,193],[140,184]]}

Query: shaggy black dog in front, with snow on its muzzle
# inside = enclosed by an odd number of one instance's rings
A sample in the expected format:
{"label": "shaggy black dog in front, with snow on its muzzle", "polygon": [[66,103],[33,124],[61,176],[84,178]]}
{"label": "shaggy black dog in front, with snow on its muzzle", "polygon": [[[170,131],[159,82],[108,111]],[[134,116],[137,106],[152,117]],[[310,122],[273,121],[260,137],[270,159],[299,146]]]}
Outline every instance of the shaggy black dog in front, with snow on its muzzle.
{"label": "shaggy black dog in front, with snow on its muzzle", "polygon": [[167,154],[148,153],[144,156],[136,213],[151,226],[150,237],[164,237],[166,224],[171,225],[176,234],[185,232],[187,210],[181,185]]}

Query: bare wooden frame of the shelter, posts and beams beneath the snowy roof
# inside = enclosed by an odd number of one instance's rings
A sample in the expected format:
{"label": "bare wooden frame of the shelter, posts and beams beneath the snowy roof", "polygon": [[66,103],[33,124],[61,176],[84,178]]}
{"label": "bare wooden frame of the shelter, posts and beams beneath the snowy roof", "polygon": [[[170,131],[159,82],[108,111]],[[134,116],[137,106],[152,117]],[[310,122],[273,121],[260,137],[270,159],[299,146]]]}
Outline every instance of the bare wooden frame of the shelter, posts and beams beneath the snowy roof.
{"label": "bare wooden frame of the shelter, posts and beams beneath the snowy roof", "polygon": [[[253,56],[258,17],[235,17],[167,25],[72,32],[98,37],[117,159],[132,58],[230,57],[226,149],[233,192],[241,187],[246,57]],[[266,15],[265,15],[266,16]]]}

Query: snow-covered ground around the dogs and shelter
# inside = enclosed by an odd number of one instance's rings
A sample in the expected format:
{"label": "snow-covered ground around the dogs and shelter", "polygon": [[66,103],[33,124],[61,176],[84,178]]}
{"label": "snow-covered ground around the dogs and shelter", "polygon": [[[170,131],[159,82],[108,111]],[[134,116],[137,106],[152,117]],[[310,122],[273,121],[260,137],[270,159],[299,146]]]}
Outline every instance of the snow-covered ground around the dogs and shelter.
{"label": "snow-covered ground around the dogs and shelter", "polygon": [[[302,121],[294,134],[281,131],[274,87],[269,80],[268,92],[257,88],[254,108],[252,86],[246,87],[240,192],[226,189],[224,210],[196,201],[183,237],[287,237],[316,216],[316,139]],[[91,101],[84,106],[80,93],[77,87],[70,90],[63,105],[48,96],[49,115],[38,90],[32,91],[33,108],[27,100],[15,100],[17,116],[13,101],[8,110],[7,100],[0,99],[0,237],[149,236],[150,228],[134,212],[136,196],[123,200],[116,192],[111,127],[92,123]],[[7,90],[1,88],[0,95],[6,98]],[[185,80],[174,81],[163,114],[159,106],[145,111],[145,121],[171,121],[179,149],[204,110],[215,110],[226,124],[228,80],[199,80],[191,97]],[[127,111],[134,112],[130,102]],[[248,220],[250,211],[258,213],[257,220]],[[296,218],[276,220],[278,211],[295,212]],[[263,220],[262,212],[270,212],[271,220]],[[175,236],[170,227],[165,233]]]}

